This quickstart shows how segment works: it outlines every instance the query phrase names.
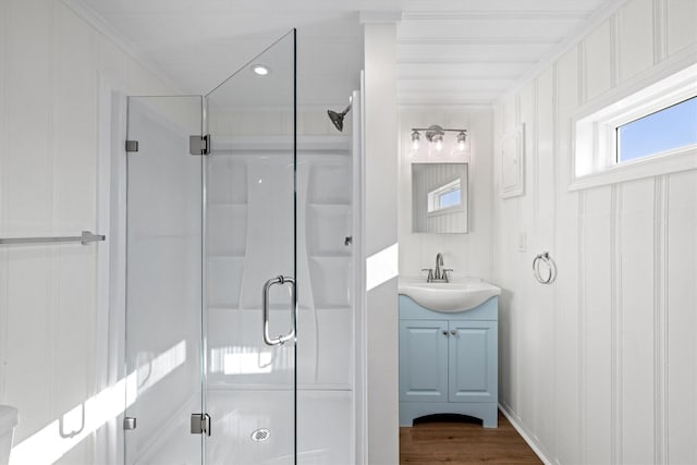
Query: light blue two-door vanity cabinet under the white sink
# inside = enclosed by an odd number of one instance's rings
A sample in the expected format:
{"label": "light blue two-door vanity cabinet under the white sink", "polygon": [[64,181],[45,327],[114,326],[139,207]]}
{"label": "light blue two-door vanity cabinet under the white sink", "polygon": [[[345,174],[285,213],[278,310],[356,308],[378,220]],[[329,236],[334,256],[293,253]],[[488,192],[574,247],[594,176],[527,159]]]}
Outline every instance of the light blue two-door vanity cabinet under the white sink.
{"label": "light blue two-door vanity cabinet under the white sink", "polygon": [[400,426],[431,414],[498,425],[498,297],[443,314],[400,295]]}

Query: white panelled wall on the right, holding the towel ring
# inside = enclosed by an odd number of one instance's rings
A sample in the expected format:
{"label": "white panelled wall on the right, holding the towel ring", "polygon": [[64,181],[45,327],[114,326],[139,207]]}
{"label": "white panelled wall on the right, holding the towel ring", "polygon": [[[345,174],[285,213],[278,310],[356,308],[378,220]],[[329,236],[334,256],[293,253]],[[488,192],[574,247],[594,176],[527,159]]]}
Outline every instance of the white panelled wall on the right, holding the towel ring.
{"label": "white panelled wall on the right, holding the towel ring", "polygon": [[523,196],[500,198],[494,160],[500,401],[554,463],[697,463],[697,171],[566,188],[570,115],[694,47],[696,22],[693,0],[628,1],[496,109],[494,140],[526,127]]}

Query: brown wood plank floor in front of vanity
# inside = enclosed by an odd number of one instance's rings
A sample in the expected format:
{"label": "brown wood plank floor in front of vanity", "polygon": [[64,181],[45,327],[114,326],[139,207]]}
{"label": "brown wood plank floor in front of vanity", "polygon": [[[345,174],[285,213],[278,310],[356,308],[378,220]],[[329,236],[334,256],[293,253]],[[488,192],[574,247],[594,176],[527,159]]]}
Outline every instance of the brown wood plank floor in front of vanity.
{"label": "brown wood plank floor in front of vanity", "polygon": [[400,428],[400,464],[542,463],[501,412],[496,429],[482,428],[480,420],[465,421],[440,415]]}

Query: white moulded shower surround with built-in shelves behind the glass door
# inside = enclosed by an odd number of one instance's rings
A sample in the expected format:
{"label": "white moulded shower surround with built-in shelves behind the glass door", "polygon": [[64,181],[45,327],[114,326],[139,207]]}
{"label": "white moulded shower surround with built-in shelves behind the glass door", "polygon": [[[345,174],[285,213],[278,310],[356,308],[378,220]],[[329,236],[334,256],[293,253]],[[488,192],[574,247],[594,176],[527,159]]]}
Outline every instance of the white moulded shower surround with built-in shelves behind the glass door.
{"label": "white moulded shower surround with built-in shelves behind the glass door", "polygon": [[[298,460],[348,465],[355,462],[354,258],[346,242],[353,234],[351,139],[337,135],[326,109],[298,109],[294,235],[292,196],[270,198],[262,188],[282,183],[283,192],[293,192],[289,138],[279,136],[289,133],[292,121],[283,111],[236,114],[213,108],[209,113],[211,133],[223,135],[213,140],[218,155],[208,158],[209,395],[235,412],[240,433],[233,437],[243,442],[233,449],[256,454],[242,463],[266,463],[277,445],[248,448],[245,431],[288,424],[292,397],[281,393],[295,365]],[[351,121],[344,131],[351,131]],[[288,228],[285,243],[278,240],[279,228]],[[277,238],[269,247],[265,236],[272,231]],[[289,262],[267,276],[271,258],[292,250],[294,241],[296,271]],[[279,274],[296,277],[295,347],[271,348],[261,338],[261,286]],[[291,328],[288,291],[271,287],[271,335]],[[276,441],[292,440],[280,430],[272,435]],[[209,443],[213,451],[230,448],[215,437]]]}

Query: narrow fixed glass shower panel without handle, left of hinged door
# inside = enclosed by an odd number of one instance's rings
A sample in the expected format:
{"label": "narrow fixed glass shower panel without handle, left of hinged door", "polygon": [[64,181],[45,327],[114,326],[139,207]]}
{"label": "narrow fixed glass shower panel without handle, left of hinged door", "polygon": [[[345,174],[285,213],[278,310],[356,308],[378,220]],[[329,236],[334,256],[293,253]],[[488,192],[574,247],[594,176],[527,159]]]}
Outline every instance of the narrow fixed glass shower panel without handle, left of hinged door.
{"label": "narrow fixed glass shower panel without handle, left of hinged door", "polygon": [[200,464],[201,97],[130,97],[125,464]]}

